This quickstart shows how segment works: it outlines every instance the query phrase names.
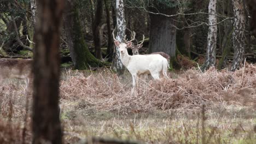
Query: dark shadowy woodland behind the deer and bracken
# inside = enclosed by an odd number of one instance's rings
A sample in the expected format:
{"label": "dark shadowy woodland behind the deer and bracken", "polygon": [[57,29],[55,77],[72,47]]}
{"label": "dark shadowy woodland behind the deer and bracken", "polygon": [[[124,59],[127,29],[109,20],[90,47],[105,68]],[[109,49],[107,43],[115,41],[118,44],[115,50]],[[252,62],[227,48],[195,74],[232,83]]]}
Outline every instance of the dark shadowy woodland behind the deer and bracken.
{"label": "dark shadowy woodland behind the deer and bracken", "polygon": [[[209,1],[124,1],[126,23],[123,25],[127,38],[131,31],[136,32],[135,44],[142,40],[143,34],[146,36],[141,54],[164,51],[172,57],[171,68],[174,69],[191,68],[194,62],[206,64],[210,56],[207,44],[214,41],[210,53],[217,57],[216,68],[223,69],[231,65],[236,49],[243,49],[243,59],[255,62],[255,37],[249,26],[253,16],[244,1],[237,1],[235,5],[242,13],[234,12],[231,0],[217,2],[213,11],[216,22],[212,27],[217,26],[213,40],[207,39],[211,25]],[[112,31],[117,26],[116,9],[115,1],[110,0],[66,1],[60,45],[63,65],[73,64],[75,69],[85,69],[109,65],[98,61],[103,58],[113,62]],[[33,1],[1,1],[1,57],[32,57],[35,14]],[[241,14],[238,16],[242,16],[242,21],[237,22],[243,29],[234,27],[237,16],[234,14]],[[237,33],[242,36],[235,38]],[[129,52],[131,54],[131,50]]]}

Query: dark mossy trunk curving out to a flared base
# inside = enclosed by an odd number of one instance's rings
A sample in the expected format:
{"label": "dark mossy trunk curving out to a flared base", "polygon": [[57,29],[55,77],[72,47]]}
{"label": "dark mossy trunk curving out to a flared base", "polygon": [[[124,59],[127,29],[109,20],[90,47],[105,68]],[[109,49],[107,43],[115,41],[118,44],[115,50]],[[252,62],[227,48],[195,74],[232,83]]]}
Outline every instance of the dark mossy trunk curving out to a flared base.
{"label": "dark mossy trunk curving out to a flared base", "polygon": [[89,67],[102,66],[102,62],[96,59],[85,44],[79,21],[77,1],[66,0],[63,26],[65,29],[66,41],[75,69],[86,69]]}

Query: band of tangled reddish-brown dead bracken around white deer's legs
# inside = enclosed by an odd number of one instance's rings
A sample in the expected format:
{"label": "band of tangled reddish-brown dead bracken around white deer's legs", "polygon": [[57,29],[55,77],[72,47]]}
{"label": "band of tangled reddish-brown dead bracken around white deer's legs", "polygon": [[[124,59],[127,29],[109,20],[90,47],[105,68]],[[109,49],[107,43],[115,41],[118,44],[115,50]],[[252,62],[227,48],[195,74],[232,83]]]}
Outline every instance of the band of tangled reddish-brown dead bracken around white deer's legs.
{"label": "band of tangled reddish-brown dead bracken around white deer's legs", "polygon": [[73,99],[78,104],[79,101],[89,103],[96,110],[123,113],[200,109],[202,104],[207,107],[223,103],[251,106],[255,100],[256,66],[253,64],[246,64],[235,72],[210,68],[201,73],[193,68],[177,79],[149,82],[141,79],[136,91],[131,89],[131,76],[125,77],[121,80],[109,70],[69,76],[61,82],[61,98]]}

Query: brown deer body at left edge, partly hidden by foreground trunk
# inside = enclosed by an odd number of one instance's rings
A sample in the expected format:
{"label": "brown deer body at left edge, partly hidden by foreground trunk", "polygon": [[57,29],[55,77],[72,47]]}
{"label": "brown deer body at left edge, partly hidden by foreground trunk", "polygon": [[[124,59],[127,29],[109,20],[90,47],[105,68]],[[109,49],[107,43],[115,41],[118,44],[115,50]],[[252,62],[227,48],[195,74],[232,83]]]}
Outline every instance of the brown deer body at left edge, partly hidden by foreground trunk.
{"label": "brown deer body at left edge, partly hidden by foreground trunk", "polygon": [[0,59],[0,85],[4,79],[24,79],[26,88],[32,78],[31,71],[32,59]]}

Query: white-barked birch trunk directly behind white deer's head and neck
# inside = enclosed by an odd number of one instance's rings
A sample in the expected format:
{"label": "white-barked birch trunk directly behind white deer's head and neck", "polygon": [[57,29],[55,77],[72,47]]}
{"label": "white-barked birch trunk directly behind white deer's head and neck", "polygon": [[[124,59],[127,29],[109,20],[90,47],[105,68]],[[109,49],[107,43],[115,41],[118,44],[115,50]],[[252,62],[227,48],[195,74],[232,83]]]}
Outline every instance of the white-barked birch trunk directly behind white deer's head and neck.
{"label": "white-barked birch trunk directly behind white deer's head and neck", "polygon": [[[125,29],[126,29],[126,21],[124,15],[124,1],[116,0],[117,7],[117,36],[115,39],[119,41],[124,41]],[[115,46],[115,58],[113,61],[113,69],[118,71],[118,74],[123,74],[124,65],[121,62],[121,58],[119,55],[118,47]]]}

